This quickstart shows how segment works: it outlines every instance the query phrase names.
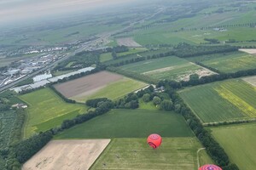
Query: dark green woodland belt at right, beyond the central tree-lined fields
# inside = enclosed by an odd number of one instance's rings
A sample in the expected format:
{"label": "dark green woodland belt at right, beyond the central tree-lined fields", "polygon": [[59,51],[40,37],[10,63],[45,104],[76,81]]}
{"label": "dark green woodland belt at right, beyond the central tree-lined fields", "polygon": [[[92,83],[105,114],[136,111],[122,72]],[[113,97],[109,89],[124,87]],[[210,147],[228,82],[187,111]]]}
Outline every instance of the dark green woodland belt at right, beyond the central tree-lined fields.
{"label": "dark green woodland belt at right, beyond the central tree-lined fields", "polygon": [[192,46],[188,43],[179,43],[174,49],[174,54],[177,57],[187,58],[204,54],[218,54],[237,51],[238,48],[229,45],[223,46]]}

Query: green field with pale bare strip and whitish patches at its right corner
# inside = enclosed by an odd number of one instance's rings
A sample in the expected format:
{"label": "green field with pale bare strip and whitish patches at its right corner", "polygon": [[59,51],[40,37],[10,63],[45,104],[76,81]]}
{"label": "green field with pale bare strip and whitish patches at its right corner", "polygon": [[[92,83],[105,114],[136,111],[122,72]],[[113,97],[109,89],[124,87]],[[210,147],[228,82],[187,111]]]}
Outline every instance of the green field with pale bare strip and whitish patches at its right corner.
{"label": "green field with pale bare strip and whitish patches at its right corner", "polygon": [[155,79],[173,79],[188,81],[191,74],[198,74],[200,77],[214,74],[199,65],[180,59],[175,56],[149,59],[130,65],[120,67],[125,71],[135,71]]}

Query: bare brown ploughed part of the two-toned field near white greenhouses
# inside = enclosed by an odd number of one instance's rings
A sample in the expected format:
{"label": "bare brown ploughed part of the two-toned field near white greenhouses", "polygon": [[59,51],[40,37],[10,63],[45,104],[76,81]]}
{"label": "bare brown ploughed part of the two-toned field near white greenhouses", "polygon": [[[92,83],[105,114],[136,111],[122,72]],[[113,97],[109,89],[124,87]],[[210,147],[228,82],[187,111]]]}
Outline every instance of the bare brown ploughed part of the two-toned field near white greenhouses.
{"label": "bare brown ploughed part of the two-toned field near white greenhouses", "polygon": [[104,88],[110,82],[116,82],[123,77],[108,71],[102,71],[87,77],[81,77],[70,82],[64,82],[55,86],[55,88],[67,98],[83,94],[90,95],[101,88]]}

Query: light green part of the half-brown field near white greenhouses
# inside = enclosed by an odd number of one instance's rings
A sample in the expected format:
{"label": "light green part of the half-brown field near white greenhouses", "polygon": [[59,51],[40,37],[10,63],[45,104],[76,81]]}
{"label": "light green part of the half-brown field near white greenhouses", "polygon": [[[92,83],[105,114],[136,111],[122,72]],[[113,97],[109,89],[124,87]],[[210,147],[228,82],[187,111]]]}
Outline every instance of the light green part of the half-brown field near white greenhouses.
{"label": "light green part of the half-brown field near white greenhouses", "polygon": [[74,96],[71,99],[74,99],[79,102],[84,102],[87,99],[96,99],[96,98],[108,98],[108,99],[119,99],[126,94],[136,91],[137,89],[144,88],[147,86],[144,82],[138,82],[131,78],[123,77],[117,82],[111,82],[105,87],[99,89],[94,94],[89,96]]}

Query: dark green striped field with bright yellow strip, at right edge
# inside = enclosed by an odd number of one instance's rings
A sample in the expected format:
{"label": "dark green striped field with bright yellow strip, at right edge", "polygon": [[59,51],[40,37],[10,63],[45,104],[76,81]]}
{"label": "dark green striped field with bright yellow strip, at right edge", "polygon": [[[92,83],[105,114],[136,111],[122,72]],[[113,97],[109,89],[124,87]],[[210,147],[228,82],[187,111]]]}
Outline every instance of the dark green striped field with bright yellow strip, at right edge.
{"label": "dark green striped field with bright yellow strip, at right edge", "polygon": [[256,117],[256,89],[240,79],[186,88],[179,94],[201,122],[229,122]]}

